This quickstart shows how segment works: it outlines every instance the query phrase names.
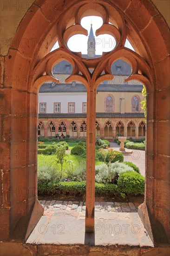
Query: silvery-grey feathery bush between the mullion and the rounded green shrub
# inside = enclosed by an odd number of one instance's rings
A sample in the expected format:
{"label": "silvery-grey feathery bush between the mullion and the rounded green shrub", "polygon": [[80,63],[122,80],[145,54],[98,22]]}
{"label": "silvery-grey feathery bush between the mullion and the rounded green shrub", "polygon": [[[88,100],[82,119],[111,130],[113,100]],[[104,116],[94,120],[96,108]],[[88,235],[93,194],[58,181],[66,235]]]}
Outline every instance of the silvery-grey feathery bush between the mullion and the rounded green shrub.
{"label": "silvery-grey feathery bush between the mullion and the rounded green shrub", "polygon": [[106,164],[97,165],[95,166],[95,180],[98,183],[117,183],[118,176],[129,171],[134,172],[133,168],[120,162],[111,163],[109,166]]}

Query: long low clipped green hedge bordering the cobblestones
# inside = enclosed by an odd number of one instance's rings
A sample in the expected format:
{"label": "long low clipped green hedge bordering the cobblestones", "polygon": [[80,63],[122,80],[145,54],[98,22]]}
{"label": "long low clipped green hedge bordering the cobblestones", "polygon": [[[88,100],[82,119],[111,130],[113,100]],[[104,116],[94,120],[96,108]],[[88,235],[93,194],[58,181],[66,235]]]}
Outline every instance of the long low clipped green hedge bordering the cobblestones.
{"label": "long low clipped green hedge bordering the cobblestones", "polygon": [[[69,194],[85,196],[85,182],[57,182],[38,181],[39,194]],[[96,195],[118,195],[118,187],[115,184],[95,183]]]}

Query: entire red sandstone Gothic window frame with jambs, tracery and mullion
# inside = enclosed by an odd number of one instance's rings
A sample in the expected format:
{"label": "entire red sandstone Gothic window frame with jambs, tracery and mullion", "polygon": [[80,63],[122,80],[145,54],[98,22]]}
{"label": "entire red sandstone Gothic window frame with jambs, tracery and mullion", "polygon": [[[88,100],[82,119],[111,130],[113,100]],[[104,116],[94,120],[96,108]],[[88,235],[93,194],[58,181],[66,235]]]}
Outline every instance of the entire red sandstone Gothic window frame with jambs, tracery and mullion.
{"label": "entire red sandstone Gothic window frame with jambs, tracery and mullion", "polygon": [[[52,67],[63,59],[72,64],[73,72],[66,82],[80,81],[87,88],[85,230],[94,231],[96,89],[101,81],[112,78],[110,67],[113,61],[121,58],[130,63],[132,73],[126,81],[138,80],[147,88],[145,199],[139,214],[152,240],[159,241],[161,236],[163,243],[170,236],[169,175],[167,175],[170,141],[166,136],[170,128],[169,28],[150,0],[137,0],[137,3],[139,3],[138,10],[133,8],[134,3],[131,0],[127,0],[127,5],[121,4],[118,0],[65,0],[65,2],[59,1],[57,8],[52,8],[49,0],[34,1],[20,22],[7,56],[2,58],[2,67],[4,67],[2,94],[5,99],[2,114],[8,113],[9,116],[13,116],[20,113],[20,108],[28,116],[30,113],[38,113],[40,86],[47,81],[59,82],[52,74]],[[87,60],[81,58],[81,53],[71,52],[67,47],[67,41],[74,34],[87,35],[80,21],[89,14],[98,15],[103,19],[104,24],[96,31],[96,35],[111,34],[117,44],[113,51],[104,53],[101,58]],[[33,47],[22,47],[20,41],[26,38],[36,39]],[[50,53],[54,38],[55,41],[59,41],[59,48]],[[124,47],[126,38],[130,40],[136,52]],[[134,41],[137,42],[136,45],[133,44]],[[16,45],[16,42],[19,44]],[[92,74],[89,68],[94,68]],[[103,70],[105,74],[101,75]],[[11,85],[9,77],[4,74],[11,74],[13,77],[24,76],[26,78],[24,88],[22,80],[13,81]],[[16,102],[20,104],[16,106]],[[9,122],[3,125],[6,126],[6,132],[2,129],[3,150],[9,152],[14,152],[16,148],[36,150],[37,119],[28,118],[26,123],[22,121],[15,123],[9,119]],[[12,134],[11,141],[9,134]],[[31,224],[37,223],[43,214],[42,206],[37,200],[37,156],[28,157],[26,160],[16,160],[10,155],[6,156],[1,170],[3,170],[3,187],[7,188],[6,192],[2,193],[1,199],[1,222],[7,225],[1,240],[10,240],[13,237],[11,222],[14,227],[20,228],[23,221],[28,227],[25,236],[27,238],[32,231]],[[22,187],[23,183],[28,191],[33,187],[32,192],[18,197],[10,193],[15,190],[16,184]],[[155,235],[152,232],[154,224],[159,227],[159,232]],[[22,234],[18,236],[23,239]]]}

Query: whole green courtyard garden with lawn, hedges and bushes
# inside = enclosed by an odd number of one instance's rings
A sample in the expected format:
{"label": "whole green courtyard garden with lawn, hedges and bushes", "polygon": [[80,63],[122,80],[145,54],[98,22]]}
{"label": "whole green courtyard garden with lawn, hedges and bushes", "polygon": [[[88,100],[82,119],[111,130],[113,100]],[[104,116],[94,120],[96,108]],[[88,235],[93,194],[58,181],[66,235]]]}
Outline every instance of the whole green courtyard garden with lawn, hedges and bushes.
{"label": "whole green courtyard garden with lawn, hedges and bushes", "polygon": [[[136,144],[136,142],[133,143]],[[132,162],[124,161],[122,152],[113,150],[109,146],[109,141],[96,140],[96,196],[116,196],[124,200],[129,196],[144,195],[144,177],[140,174],[139,168]],[[69,138],[61,141],[55,138],[40,139],[38,144],[39,196],[85,198],[85,189],[86,142],[73,141]]]}

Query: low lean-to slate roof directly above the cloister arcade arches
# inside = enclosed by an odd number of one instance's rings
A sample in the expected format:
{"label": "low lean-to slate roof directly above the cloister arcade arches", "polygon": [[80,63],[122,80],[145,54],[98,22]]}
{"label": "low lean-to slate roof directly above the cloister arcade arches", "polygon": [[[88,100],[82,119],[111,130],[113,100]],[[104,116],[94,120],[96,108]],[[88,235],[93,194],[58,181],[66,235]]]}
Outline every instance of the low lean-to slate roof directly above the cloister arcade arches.
{"label": "low lean-to slate roof directly above the cloister arcade arches", "polygon": [[[52,114],[39,114],[39,118],[86,118],[86,113],[52,113]],[[144,113],[133,112],[133,113],[114,113],[114,112],[104,112],[96,113],[96,118],[108,118],[108,119],[121,119],[121,118],[144,118]],[[116,121],[116,120],[115,120]]]}

